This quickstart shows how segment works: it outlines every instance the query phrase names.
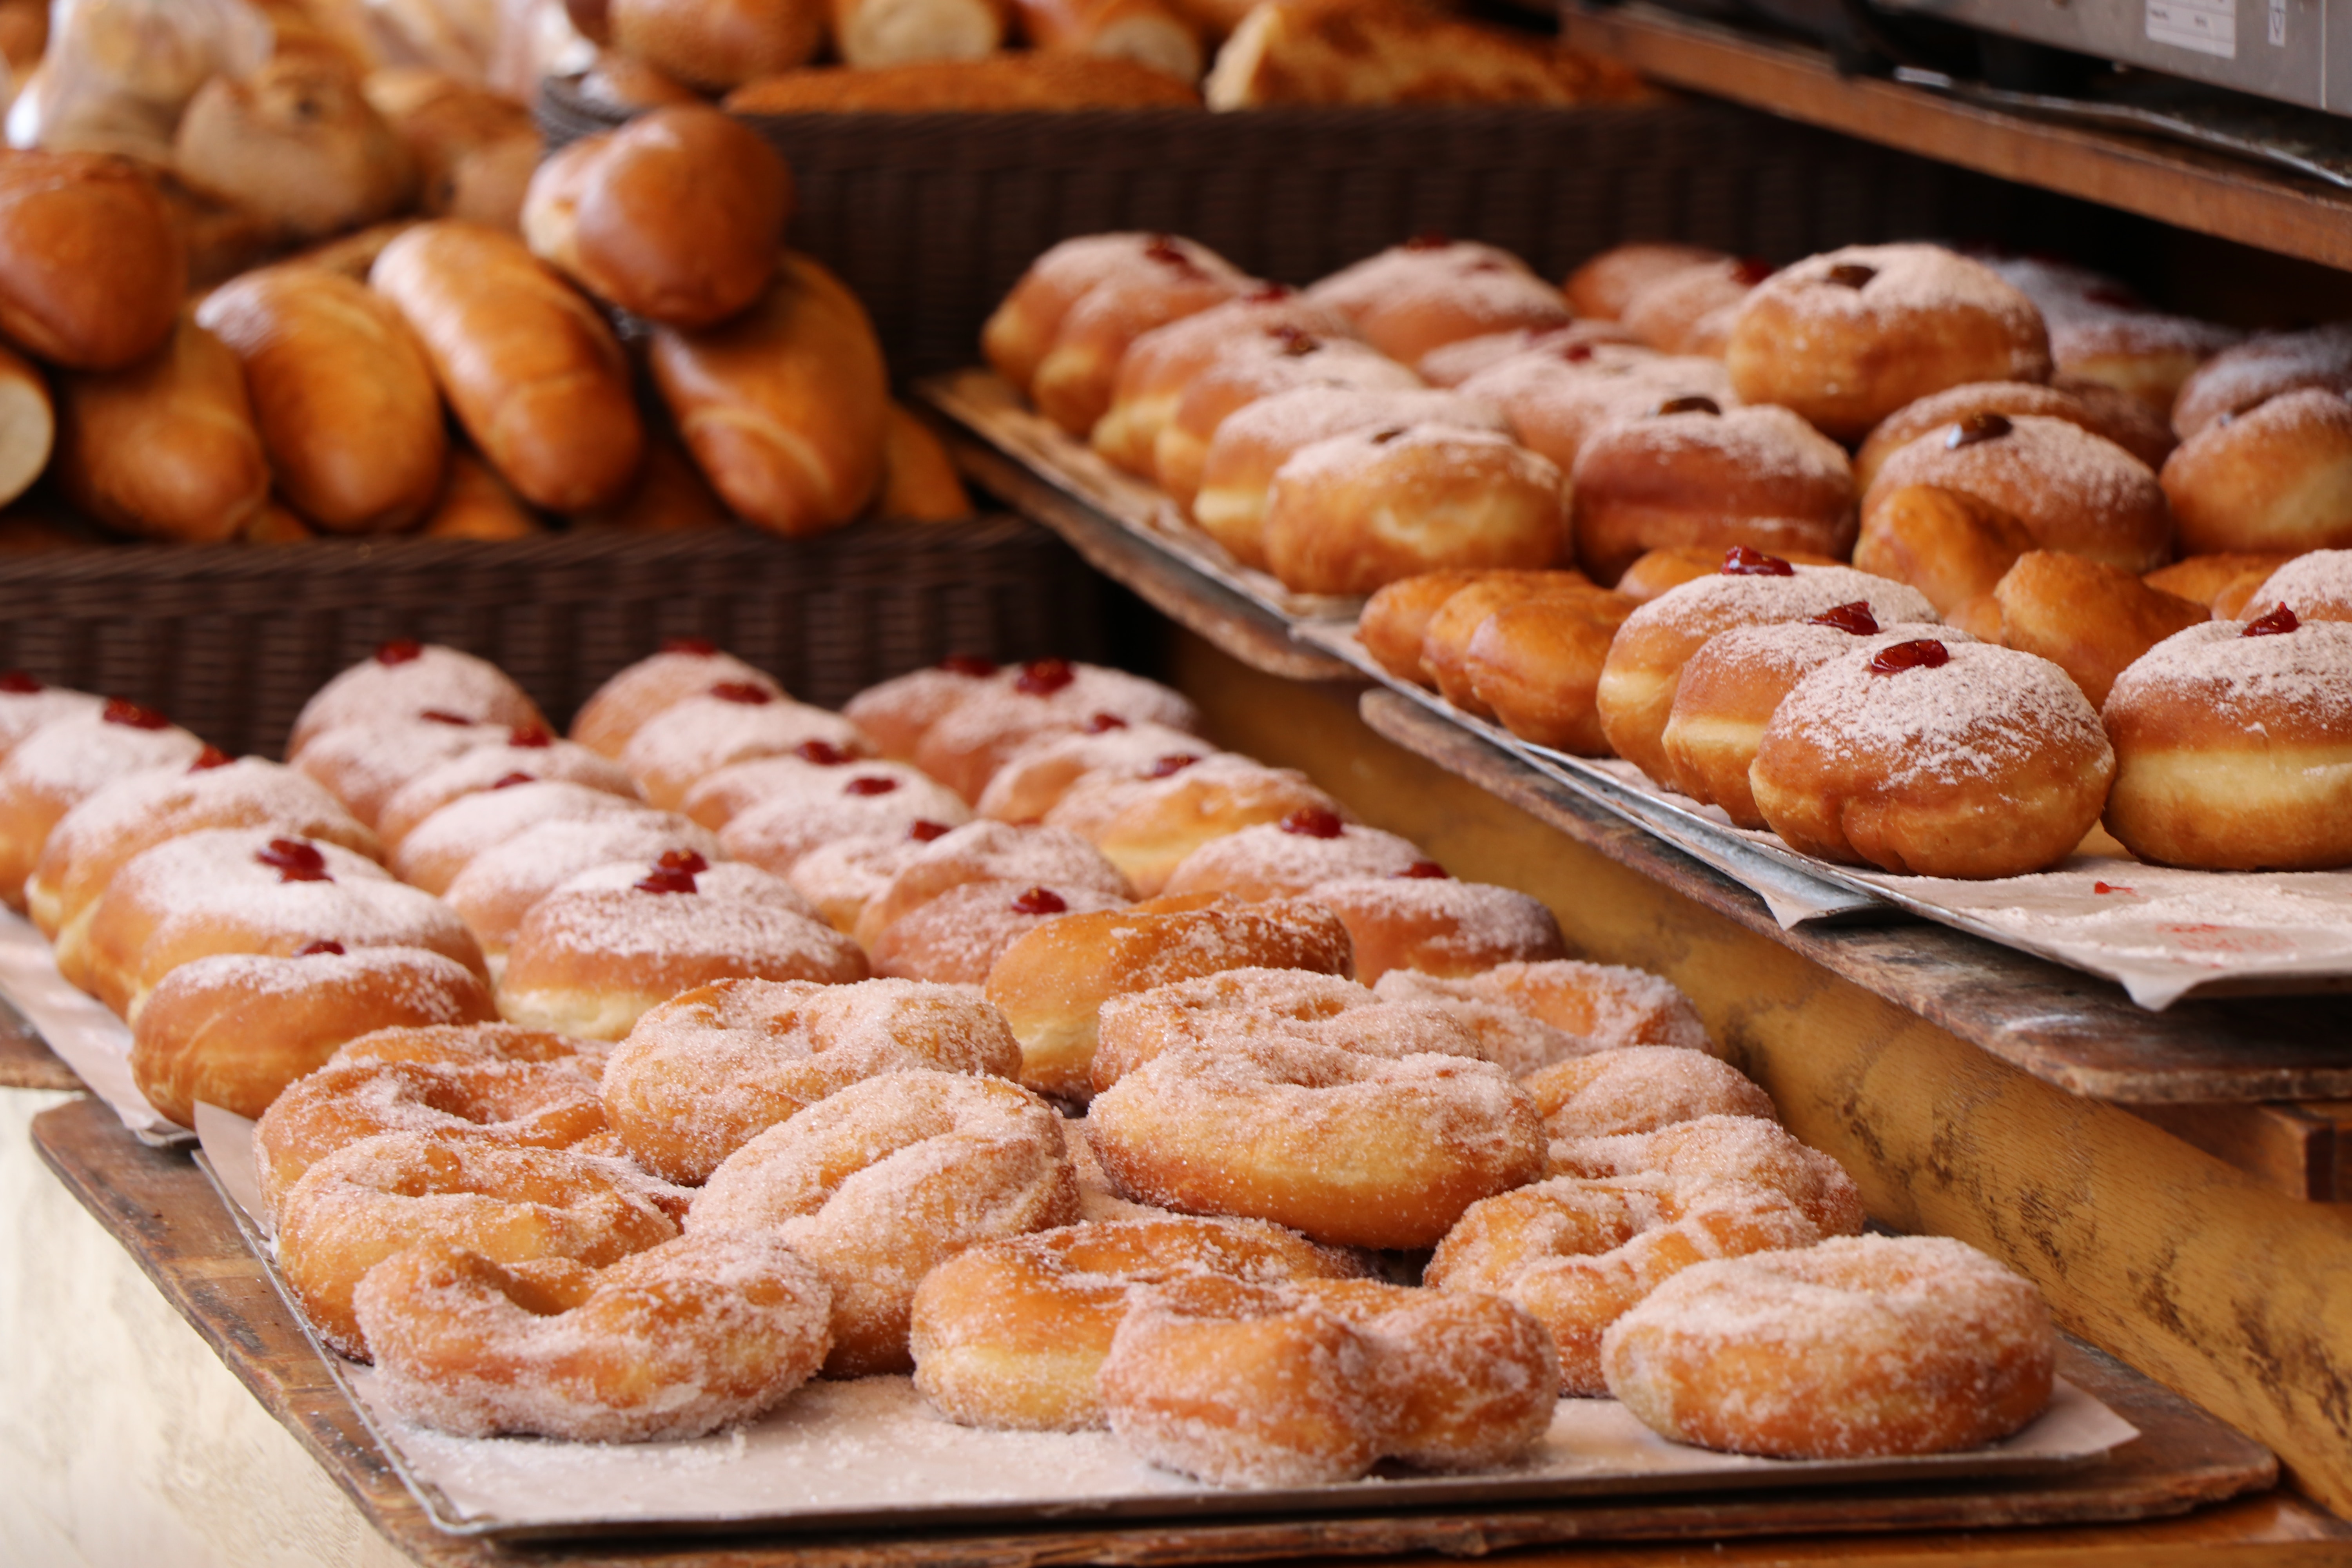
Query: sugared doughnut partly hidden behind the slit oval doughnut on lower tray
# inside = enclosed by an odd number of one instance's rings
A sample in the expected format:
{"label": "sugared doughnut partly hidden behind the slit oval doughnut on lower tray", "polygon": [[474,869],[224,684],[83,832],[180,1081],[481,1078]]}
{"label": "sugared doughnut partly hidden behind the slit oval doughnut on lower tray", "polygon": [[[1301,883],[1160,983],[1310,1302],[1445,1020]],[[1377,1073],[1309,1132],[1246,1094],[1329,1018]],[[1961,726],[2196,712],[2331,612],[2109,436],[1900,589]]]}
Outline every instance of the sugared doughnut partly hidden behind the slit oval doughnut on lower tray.
{"label": "sugared doughnut partly hidden behind the slit oval doughnut on lower tray", "polygon": [[1021,1046],[946,985],[720,980],[644,1013],[604,1067],[630,1159],[699,1187],[755,1135],[861,1079],[908,1067],[1016,1077]]}

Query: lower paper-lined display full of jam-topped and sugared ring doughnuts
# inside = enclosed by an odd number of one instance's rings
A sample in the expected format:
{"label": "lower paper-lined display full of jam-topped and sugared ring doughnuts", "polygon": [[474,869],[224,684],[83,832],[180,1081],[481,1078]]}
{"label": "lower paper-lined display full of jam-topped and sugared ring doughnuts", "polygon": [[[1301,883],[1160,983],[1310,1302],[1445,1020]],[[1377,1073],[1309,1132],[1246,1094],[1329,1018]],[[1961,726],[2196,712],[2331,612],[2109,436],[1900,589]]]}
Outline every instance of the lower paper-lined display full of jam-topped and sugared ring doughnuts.
{"label": "lower paper-lined display full of jam-topped and sugared ring doughnuts", "polygon": [[[2032,1284],[1860,1234],[1670,983],[1120,670],[953,658],[833,712],[682,642],[557,736],[395,642],[287,764],[21,677],[0,745],[9,900],[141,1105],[207,1124],[454,1528],[1917,1479],[2131,1434],[2053,1380]],[[675,1443],[746,1427],[797,1493],[666,1502]]]}

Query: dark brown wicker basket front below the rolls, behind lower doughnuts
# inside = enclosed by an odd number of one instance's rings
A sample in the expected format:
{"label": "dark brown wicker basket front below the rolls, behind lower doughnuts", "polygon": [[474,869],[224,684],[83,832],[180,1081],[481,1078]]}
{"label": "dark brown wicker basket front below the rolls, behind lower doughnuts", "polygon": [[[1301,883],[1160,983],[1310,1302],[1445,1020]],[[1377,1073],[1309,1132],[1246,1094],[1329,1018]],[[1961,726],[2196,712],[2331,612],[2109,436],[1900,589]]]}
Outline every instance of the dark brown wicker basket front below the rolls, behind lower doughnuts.
{"label": "dark brown wicker basket front below the rolls, behind lower doughnuts", "polygon": [[567,722],[663,637],[710,637],[793,696],[969,651],[1101,656],[1101,581],[1058,538],[993,517],[527,543],[329,541],[101,548],[0,562],[0,668],[136,698],[230,752],[275,757],[294,712],[388,637],[499,663]]}

